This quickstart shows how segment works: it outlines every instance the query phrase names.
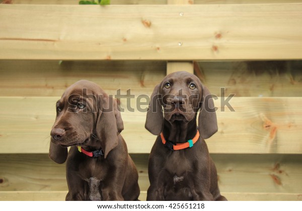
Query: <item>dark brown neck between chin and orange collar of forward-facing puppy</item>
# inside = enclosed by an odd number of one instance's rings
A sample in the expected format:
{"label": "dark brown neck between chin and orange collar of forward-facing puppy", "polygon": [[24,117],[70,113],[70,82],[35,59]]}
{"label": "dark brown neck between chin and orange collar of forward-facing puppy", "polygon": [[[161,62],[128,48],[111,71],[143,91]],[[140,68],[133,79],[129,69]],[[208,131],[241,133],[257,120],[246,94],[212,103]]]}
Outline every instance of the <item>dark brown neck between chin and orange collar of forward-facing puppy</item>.
{"label": "dark brown neck between chin and orange collar of forward-facing puppy", "polygon": [[185,121],[164,121],[163,134],[166,139],[174,144],[185,143],[193,139],[197,132],[195,118],[190,122]]}

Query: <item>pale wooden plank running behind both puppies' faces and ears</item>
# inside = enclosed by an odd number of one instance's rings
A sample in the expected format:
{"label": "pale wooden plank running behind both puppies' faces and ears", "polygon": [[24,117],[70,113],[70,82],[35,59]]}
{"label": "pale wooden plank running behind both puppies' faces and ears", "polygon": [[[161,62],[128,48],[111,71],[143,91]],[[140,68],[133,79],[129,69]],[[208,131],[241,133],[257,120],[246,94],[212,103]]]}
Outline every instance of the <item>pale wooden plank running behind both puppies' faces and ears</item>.
{"label": "pale wooden plank running behind both puppies' faces and ears", "polygon": [[[0,153],[47,153],[59,97],[0,97]],[[121,99],[122,136],[131,153],[149,153],[156,137],[144,129],[145,112]],[[229,101],[229,107],[223,104]],[[301,97],[219,97],[218,132],[207,140],[212,153],[302,152]],[[222,104],[222,105],[221,105]],[[146,108],[146,105],[141,106]],[[230,109],[234,109],[232,112]],[[224,109],[224,111],[223,111]]]}

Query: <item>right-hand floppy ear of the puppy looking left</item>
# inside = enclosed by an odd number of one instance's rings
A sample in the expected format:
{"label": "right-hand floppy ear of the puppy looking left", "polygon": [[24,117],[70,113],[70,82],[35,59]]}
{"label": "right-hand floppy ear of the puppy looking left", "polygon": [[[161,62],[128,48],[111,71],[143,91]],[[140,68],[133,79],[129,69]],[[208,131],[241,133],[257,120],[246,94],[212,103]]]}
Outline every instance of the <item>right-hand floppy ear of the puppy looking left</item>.
{"label": "right-hand floppy ear of the puppy looking left", "polygon": [[[101,142],[102,149],[104,151],[104,157],[106,158],[108,153],[114,149],[118,144],[118,127],[122,131],[123,124],[120,114],[116,110],[116,104],[114,106],[115,99],[102,95],[102,100],[99,99],[99,114],[96,124],[96,134]],[[115,108],[114,108],[115,107]],[[118,121],[115,119],[116,115]],[[117,124],[117,122],[119,122]]]}

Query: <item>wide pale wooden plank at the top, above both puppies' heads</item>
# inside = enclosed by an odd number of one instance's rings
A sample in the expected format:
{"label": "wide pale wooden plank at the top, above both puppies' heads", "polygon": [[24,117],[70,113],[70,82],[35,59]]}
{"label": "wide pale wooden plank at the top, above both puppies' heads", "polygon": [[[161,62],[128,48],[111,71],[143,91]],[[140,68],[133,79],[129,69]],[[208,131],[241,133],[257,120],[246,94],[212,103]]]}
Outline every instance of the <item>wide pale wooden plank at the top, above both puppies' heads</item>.
{"label": "wide pale wooden plank at the top, above both puppies' heads", "polygon": [[0,5],[0,59],[301,59],[301,11],[299,3]]}

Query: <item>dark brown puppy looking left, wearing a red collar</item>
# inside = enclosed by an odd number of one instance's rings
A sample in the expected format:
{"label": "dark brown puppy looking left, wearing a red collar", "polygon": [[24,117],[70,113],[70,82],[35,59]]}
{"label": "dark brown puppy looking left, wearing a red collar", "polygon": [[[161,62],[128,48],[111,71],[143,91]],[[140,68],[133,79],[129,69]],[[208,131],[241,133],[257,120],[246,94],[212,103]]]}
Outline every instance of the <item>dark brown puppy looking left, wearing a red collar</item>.
{"label": "dark brown puppy looking left, wearing a red collar", "polygon": [[116,101],[81,80],[66,89],[56,112],[49,157],[57,163],[67,159],[66,200],[137,200],[138,174],[120,135],[124,126]]}

